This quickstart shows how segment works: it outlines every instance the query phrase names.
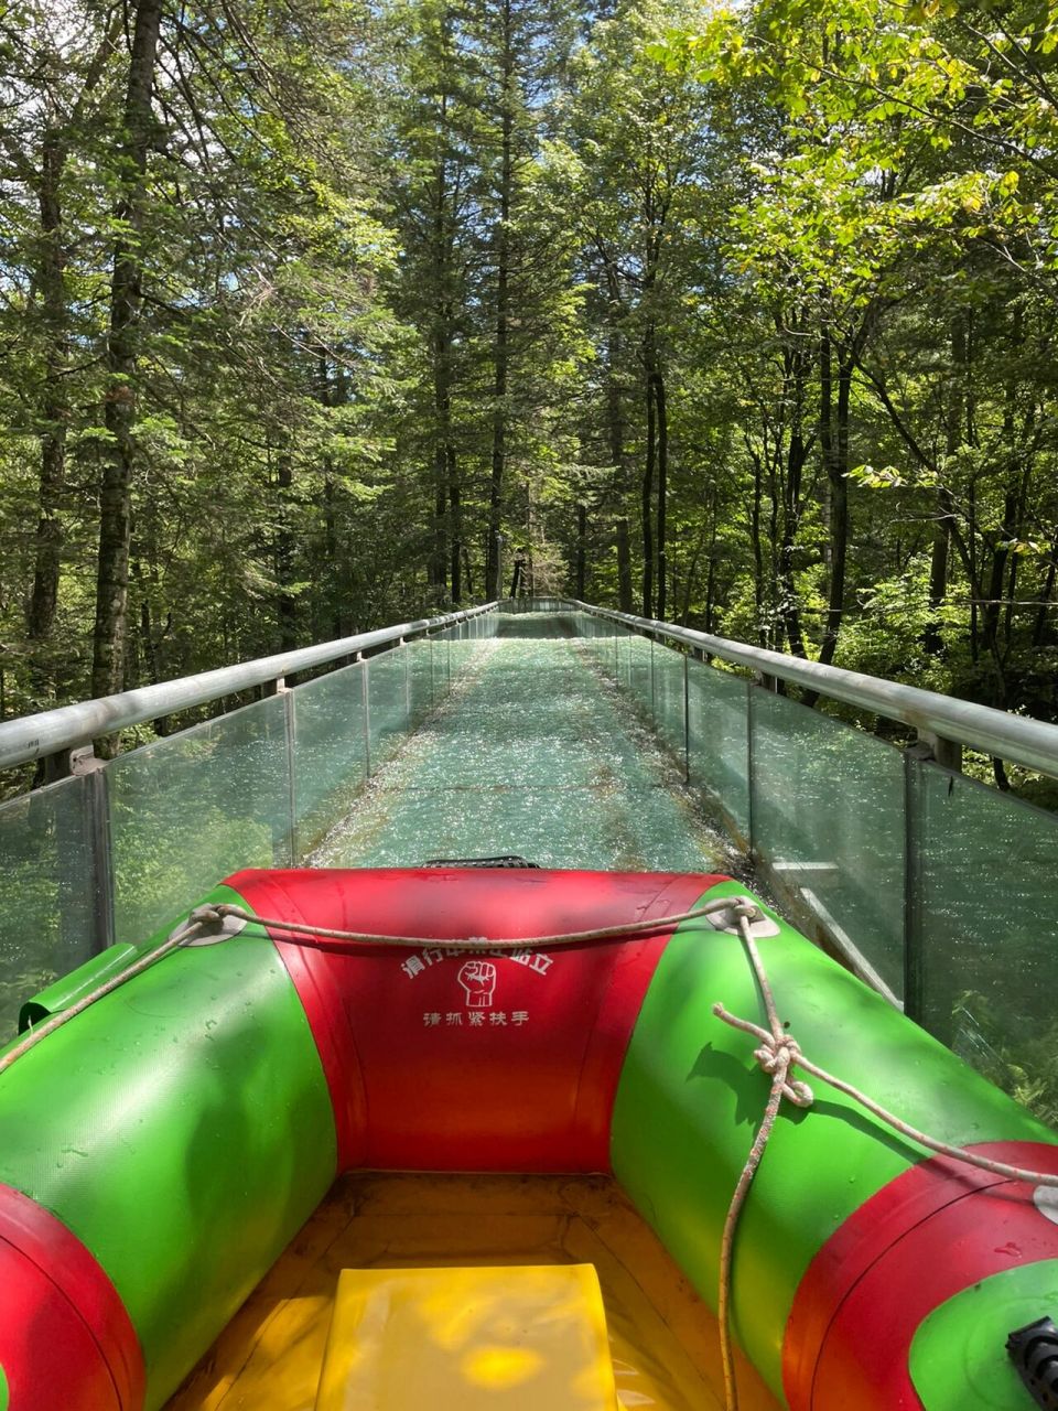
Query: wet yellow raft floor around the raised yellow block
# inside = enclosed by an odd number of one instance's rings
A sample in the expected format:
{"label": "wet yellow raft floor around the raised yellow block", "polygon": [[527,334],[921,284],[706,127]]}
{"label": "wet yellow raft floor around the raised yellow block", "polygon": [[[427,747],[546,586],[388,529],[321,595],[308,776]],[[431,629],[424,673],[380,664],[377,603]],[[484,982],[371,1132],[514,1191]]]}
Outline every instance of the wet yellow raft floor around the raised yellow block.
{"label": "wet yellow raft floor around the raised yellow block", "polygon": [[[722,1407],[717,1321],[612,1181],[370,1174],[333,1187],[168,1411],[313,1411],[343,1268],[570,1263],[598,1271],[621,1407]],[[742,1411],[777,1411],[743,1359],[738,1383]]]}

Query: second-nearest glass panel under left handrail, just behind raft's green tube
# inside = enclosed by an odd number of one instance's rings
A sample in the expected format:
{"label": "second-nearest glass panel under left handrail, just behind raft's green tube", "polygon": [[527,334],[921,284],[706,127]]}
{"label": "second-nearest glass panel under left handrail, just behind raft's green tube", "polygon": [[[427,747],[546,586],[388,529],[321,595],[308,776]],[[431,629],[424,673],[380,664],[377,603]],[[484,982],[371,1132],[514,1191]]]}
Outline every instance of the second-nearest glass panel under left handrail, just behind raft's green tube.
{"label": "second-nearest glass panel under left handrail, just behind raft's green tube", "polygon": [[238,868],[289,865],[285,715],[272,696],[107,765],[116,940],[145,940]]}

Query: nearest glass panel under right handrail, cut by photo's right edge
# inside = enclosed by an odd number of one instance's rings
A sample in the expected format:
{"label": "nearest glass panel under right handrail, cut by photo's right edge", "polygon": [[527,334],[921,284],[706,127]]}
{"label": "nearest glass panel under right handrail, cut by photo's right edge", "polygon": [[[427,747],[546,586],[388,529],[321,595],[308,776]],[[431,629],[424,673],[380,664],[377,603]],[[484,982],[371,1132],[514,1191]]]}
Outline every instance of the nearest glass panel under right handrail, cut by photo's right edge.
{"label": "nearest glass panel under right handrail, cut by photo's right edge", "polygon": [[921,1023],[1058,1123],[1058,817],[937,765],[910,768]]}

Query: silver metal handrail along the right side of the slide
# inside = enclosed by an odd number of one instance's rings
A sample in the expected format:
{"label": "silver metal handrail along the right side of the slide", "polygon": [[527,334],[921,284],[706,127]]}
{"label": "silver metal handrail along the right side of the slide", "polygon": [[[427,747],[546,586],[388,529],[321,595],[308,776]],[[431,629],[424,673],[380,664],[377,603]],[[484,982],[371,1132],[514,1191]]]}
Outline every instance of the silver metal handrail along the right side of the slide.
{"label": "silver metal handrail along the right side of the slide", "polygon": [[1013,715],[992,706],[978,706],[975,701],[942,696],[940,691],[925,691],[917,686],[901,686],[899,682],[866,676],[863,672],[848,672],[841,666],[805,662],[800,656],[732,642],[711,632],[695,632],[674,622],[615,612],[592,602],[580,602],[577,598],[563,601],[577,611],[619,622],[635,632],[664,636],[735,666],[745,666],[763,676],[791,682],[805,690],[818,691],[820,696],[829,696],[846,706],[899,720],[904,725],[911,725],[920,735],[955,741],[986,755],[997,755],[1000,759],[1058,777],[1058,725],[1050,725],[1047,721],[1030,715]]}

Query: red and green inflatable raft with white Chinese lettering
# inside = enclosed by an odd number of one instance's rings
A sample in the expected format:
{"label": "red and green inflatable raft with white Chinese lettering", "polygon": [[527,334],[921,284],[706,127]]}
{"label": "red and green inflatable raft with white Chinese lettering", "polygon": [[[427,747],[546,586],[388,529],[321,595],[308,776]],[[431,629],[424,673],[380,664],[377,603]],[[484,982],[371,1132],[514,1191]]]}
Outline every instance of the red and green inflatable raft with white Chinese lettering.
{"label": "red and green inflatable raft with white Chinese lettering", "polygon": [[[439,1407],[690,1405],[643,1390],[664,1383],[649,1369],[666,1362],[660,1342],[628,1383],[629,1348],[655,1326],[687,1346],[700,1336],[686,1301],[693,1288],[715,1305],[721,1232],[769,1079],[753,1038],[714,1013],[721,1002],[762,1017],[734,912],[649,923],[739,895],[725,878],[671,873],[230,878],[203,900],[305,934],[217,928],[0,1074],[0,1407],[158,1408],[189,1374],[174,1405],[403,1411],[426,1404],[415,1376]],[[536,944],[626,923],[639,934]],[[313,928],[427,944],[351,945]],[[752,930],[805,1055],[942,1141],[1058,1174],[1058,1146],[1026,1110],[766,907]],[[471,937],[473,951],[460,945]],[[490,938],[525,944],[491,954]],[[66,1010],[138,954],[96,958],[27,1005],[25,1022]],[[317,1277],[326,1250],[344,1247],[337,1226],[298,1233],[355,1171],[403,1173],[392,1181],[408,1204],[389,1206],[403,1242],[391,1260],[377,1245],[363,1267],[353,1249],[348,1267]],[[430,1188],[413,1173],[449,1173],[437,1181],[457,1192],[446,1199],[464,1250],[409,1243]],[[515,1267],[494,1240],[488,1173],[508,1213],[528,1192],[540,1259]],[[573,1218],[556,1175],[583,1178],[595,1245],[554,1233]],[[351,1204],[371,1212],[381,1180],[353,1188],[346,1223]],[[614,1247],[605,1221],[631,1209],[686,1280],[671,1307],[659,1295],[642,1315],[655,1259],[643,1239],[629,1246],[646,1250],[642,1278],[635,1253],[622,1256],[624,1312],[592,1268]],[[811,1106],[783,1105],[736,1232],[731,1325],[760,1379],[748,1395],[794,1411],[1030,1408],[1030,1383],[1045,1393],[1048,1333],[1023,1339],[1021,1373],[1006,1342],[1058,1314],[1057,1222],[1052,1187],[932,1156],[817,1084]],[[284,1285],[285,1321],[275,1302],[264,1319],[247,1314],[265,1276]],[[272,1390],[260,1379],[240,1391],[238,1369],[262,1350]]]}

